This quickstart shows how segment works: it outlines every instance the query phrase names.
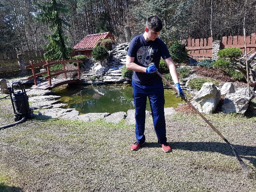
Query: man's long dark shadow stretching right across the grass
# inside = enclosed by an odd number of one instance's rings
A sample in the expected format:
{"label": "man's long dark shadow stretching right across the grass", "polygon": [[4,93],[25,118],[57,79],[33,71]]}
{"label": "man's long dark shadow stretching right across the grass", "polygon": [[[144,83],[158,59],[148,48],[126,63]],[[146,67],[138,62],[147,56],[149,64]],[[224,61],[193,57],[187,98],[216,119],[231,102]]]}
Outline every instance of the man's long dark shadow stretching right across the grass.
{"label": "man's long dark shadow stretching right across the grass", "polygon": [[[220,154],[234,156],[232,148],[227,143],[221,142],[170,142],[173,150],[189,150],[189,151],[205,151],[205,152],[218,152]],[[232,145],[238,155],[243,159],[249,160],[256,168],[256,147]],[[156,142],[145,143],[143,147],[156,148],[160,147]]]}

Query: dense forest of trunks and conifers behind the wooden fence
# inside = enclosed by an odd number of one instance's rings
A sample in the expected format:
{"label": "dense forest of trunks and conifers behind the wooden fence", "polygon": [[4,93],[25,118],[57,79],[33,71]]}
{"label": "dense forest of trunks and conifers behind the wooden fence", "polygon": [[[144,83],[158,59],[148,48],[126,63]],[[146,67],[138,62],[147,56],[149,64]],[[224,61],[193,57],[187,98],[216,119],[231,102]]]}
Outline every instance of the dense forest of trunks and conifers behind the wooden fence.
{"label": "dense forest of trunks and conifers behind the wooden fence", "polygon": [[[47,1],[47,0],[45,0]],[[49,2],[53,0],[48,0]],[[186,38],[221,40],[222,36],[256,32],[256,0],[55,0],[68,7],[60,17],[70,48],[88,34],[110,31],[117,42],[131,33],[144,32],[146,18],[159,16],[165,41]],[[35,18],[42,10],[35,0],[0,0],[0,51],[38,50],[48,44],[42,34],[52,34],[48,24]],[[58,9],[57,9],[58,11]]]}

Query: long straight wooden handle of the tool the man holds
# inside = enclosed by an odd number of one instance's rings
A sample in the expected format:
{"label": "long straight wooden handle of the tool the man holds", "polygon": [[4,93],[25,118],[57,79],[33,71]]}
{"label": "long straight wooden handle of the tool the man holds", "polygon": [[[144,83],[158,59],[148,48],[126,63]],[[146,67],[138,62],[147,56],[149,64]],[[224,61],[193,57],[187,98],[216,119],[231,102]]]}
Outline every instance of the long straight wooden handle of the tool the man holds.
{"label": "long straight wooden handle of the tool the man holds", "polygon": [[[166,82],[166,84],[168,84],[170,86],[170,88],[172,88],[176,93],[177,90],[176,88],[170,84],[170,82],[168,82],[168,80],[166,80],[166,78],[164,78],[164,76],[162,76],[162,74],[160,74],[160,72],[156,71],[156,73],[162,78],[162,80],[164,80]],[[202,117],[202,119],[225,141],[227,142],[226,138],[202,115],[202,113],[200,113],[188,100],[186,100],[184,98],[183,95],[180,95],[180,97],[182,98],[182,100],[184,100],[200,117]]]}

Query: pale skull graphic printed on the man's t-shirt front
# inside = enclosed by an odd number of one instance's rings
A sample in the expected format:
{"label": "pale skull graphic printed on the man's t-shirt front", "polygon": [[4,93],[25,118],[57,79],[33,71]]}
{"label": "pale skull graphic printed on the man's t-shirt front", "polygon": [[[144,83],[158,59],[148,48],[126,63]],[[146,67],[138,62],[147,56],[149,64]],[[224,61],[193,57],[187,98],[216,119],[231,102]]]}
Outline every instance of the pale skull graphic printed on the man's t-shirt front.
{"label": "pale skull graphic printed on the man's t-shirt front", "polygon": [[143,66],[148,67],[152,63],[154,50],[151,47],[143,46],[137,51],[137,60]]}

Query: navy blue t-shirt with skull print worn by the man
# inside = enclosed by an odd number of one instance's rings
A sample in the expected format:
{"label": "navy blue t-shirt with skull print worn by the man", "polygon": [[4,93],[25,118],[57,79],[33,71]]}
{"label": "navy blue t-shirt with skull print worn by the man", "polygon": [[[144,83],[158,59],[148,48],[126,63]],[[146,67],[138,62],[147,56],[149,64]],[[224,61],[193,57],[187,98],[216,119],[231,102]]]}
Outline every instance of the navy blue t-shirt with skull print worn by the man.
{"label": "navy blue t-shirt with skull print worn by the man", "polygon": [[[127,52],[127,55],[134,57],[134,63],[148,67],[150,63],[155,63],[159,70],[161,57],[167,59],[170,57],[166,44],[156,38],[154,41],[146,41],[143,34],[134,37]],[[162,79],[156,73],[133,72],[132,80],[138,84],[150,84],[152,82],[161,81]]]}

